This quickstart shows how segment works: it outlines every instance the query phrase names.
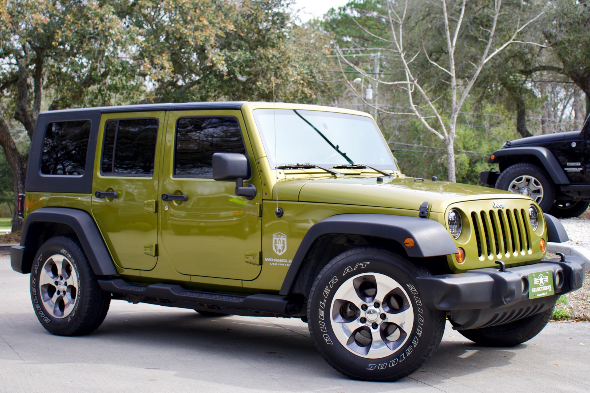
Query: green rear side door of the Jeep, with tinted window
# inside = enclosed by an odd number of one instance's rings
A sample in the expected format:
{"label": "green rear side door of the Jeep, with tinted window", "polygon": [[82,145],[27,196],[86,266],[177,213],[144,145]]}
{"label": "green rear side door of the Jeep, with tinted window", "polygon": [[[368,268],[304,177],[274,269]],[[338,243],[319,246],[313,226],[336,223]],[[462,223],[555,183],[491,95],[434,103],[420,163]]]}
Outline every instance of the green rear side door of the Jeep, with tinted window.
{"label": "green rear side door of the Jeep, with tinted window", "polygon": [[158,173],[165,112],[101,118],[92,214],[117,265],[150,270],[158,261]]}

